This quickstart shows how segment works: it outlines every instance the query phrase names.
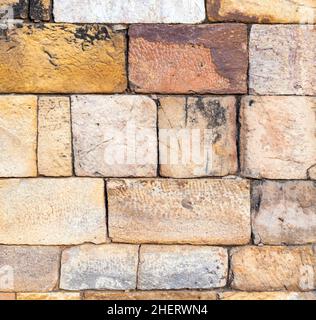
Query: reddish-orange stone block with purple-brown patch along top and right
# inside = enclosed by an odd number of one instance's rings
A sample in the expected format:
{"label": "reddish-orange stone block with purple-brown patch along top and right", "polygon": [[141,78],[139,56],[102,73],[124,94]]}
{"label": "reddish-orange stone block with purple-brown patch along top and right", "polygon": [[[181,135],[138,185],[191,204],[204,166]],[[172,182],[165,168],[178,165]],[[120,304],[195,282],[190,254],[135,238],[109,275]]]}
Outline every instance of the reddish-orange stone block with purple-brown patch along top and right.
{"label": "reddish-orange stone block with purple-brown patch along top and right", "polygon": [[137,92],[247,91],[246,25],[133,25],[129,36],[129,78]]}

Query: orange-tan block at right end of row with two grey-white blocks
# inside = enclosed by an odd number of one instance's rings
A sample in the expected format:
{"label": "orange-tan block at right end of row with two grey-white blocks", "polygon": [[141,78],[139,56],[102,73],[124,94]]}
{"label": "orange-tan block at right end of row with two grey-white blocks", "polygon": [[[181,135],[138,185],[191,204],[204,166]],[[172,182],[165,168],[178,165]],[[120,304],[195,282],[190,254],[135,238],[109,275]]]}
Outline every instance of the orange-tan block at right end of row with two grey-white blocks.
{"label": "orange-tan block at right end of row with two grey-white blocks", "polygon": [[244,291],[316,289],[316,254],[307,247],[233,249],[232,288]]}

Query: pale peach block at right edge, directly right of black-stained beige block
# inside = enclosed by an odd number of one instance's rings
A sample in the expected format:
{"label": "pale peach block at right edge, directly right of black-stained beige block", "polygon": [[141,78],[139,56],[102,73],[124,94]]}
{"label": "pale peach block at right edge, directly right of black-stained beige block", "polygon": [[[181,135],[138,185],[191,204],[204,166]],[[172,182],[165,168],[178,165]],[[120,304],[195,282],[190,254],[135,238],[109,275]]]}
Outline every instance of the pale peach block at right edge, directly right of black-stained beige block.
{"label": "pale peach block at right edge, directly right of black-stained beige block", "polygon": [[315,108],[315,97],[243,98],[243,175],[306,179],[309,168],[316,164]]}

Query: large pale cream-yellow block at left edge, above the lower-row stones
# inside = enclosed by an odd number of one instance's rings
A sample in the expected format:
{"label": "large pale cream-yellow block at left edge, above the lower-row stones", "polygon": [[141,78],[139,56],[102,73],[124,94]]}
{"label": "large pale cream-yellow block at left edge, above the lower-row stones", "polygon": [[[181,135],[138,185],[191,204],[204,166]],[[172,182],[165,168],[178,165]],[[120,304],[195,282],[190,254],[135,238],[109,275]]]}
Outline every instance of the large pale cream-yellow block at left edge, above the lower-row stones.
{"label": "large pale cream-yellow block at left edge, above the lower-row stones", "polygon": [[104,202],[98,179],[0,180],[0,243],[104,242]]}

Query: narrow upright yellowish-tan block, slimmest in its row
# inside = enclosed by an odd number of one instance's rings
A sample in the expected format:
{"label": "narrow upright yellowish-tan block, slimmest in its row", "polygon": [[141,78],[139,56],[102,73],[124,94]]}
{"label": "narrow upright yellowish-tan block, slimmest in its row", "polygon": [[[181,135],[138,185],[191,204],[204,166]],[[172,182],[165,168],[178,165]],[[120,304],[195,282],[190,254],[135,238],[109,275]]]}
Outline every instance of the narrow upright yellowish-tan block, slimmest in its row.
{"label": "narrow upright yellowish-tan block, slimmest in its row", "polygon": [[39,174],[72,175],[69,98],[39,98],[37,157]]}

